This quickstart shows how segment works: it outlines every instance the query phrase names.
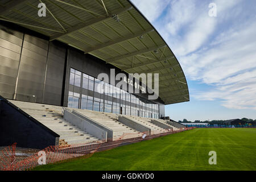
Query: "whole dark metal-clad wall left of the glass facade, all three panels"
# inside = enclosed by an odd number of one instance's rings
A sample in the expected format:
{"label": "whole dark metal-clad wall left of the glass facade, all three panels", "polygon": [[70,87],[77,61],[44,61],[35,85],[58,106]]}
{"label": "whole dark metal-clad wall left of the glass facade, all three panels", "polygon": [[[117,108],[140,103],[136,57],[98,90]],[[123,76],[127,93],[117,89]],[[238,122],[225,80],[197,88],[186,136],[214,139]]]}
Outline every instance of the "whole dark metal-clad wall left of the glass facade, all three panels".
{"label": "whole dark metal-clad wall left of the glass facade, all three panels", "polygon": [[38,103],[60,106],[65,52],[63,44],[1,28],[0,94],[14,99],[16,88],[16,94],[36,96]]}

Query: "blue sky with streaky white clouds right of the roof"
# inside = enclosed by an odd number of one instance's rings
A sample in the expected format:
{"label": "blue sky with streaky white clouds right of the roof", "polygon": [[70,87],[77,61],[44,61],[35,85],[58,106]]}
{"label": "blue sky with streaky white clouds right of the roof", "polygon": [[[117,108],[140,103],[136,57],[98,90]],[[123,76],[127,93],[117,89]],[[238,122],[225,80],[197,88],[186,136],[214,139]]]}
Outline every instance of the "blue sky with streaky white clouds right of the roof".
{"label": "blue sky with streaky white clouds right of the roof", "polygon": [[[131,0],[172,49],[189,102],[166,105],[175,121],[256,119],[255,0]],[[216,16],[209,16],[210,3]]]}

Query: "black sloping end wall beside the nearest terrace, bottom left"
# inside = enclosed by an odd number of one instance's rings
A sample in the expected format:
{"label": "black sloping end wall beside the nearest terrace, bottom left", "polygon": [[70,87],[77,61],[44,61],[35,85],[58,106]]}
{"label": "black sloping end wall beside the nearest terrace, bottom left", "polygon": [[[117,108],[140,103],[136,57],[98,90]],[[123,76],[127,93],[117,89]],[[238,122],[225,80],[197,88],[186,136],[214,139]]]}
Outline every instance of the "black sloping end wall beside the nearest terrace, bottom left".
{"label": "black sloping end wall beside the nearest terrace, bottom left", "polygon": [[59,135],[38,121],[31,121],[7,102],[0,100],[0,146],[17,143],[18,147],[43,149],[55,146]]}

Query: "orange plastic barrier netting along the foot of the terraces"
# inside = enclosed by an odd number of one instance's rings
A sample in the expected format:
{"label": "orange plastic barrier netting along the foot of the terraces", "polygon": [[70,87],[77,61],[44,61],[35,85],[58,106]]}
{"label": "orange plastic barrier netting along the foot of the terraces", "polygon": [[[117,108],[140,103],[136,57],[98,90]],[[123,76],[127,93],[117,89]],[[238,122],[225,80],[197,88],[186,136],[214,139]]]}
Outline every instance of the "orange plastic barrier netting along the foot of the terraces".
{"label": "orange plastic barrier netting along the foot of the terraces", "polygon": [[[191,130],[195,127],[181,128],[179,130],[166,130],[164,133],[152,133],[147,135],[146,132],[123,133],[123,135],[114,140],[113,142],[89,142],[84,144],[68,144],[65,147],[49,146],[39,151],[37,154],[31,155],[23,160],[15,161],[15,149],[16,143],[11,146],[5,147],[0,151],[0,171],[24,171],[39,166],[39,160],[42,158],[42,153],[46,156],[46,164],[63,162],[64,160],[73,158],[89,158],[97,151],[109,150],[123,144],[130,144],[135,142],[141,142],[142,140],[148,140],[153,138],[162,137],[169,134],[179,133],[185,130]],[[146,137],[142,136],[146,134]]]}

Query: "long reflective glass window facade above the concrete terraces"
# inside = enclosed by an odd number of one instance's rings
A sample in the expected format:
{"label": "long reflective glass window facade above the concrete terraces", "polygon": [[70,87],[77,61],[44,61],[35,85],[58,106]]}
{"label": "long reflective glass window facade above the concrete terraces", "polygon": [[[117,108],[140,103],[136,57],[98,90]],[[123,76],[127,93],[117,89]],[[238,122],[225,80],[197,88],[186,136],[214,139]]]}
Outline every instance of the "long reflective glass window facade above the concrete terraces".
{"label": "long reflective glass window facade above the concrete terraces", "polygon": [[158,104],[144,103],[125,90],[73,68],[70,70],[68,107],[159,118]]}

